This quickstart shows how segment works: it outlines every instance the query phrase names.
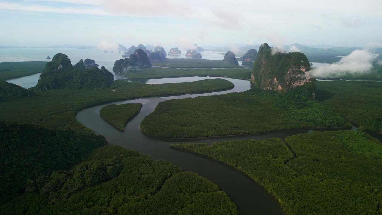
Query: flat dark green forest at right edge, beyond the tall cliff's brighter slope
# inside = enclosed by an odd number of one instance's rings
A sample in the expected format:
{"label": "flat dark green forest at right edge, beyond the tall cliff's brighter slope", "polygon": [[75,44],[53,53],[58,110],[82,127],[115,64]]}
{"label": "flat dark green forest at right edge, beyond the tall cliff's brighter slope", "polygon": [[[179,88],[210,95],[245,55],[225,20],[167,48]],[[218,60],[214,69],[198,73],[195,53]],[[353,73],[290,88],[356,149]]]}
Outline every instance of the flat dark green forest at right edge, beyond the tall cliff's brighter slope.
{"label": "flat dark green forest at right edge, beyond the tall cliff's brighter slope", "polygon": [[359,130],[382,132],[382,83],[376,81],[316,81],[316,96]]}

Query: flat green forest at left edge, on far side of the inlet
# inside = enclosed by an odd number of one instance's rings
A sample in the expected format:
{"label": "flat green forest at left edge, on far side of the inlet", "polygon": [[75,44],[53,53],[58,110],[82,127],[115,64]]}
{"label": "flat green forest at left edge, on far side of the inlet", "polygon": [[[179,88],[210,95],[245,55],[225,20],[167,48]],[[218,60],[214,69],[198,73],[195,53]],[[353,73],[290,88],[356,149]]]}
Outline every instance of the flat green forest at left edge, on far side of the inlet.
{"label": "flat green forest at left edge, on far side of the inlet", "polygon": [[0,81],[40,73],[46,61],[22,61],[0,63]]}

